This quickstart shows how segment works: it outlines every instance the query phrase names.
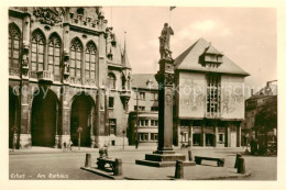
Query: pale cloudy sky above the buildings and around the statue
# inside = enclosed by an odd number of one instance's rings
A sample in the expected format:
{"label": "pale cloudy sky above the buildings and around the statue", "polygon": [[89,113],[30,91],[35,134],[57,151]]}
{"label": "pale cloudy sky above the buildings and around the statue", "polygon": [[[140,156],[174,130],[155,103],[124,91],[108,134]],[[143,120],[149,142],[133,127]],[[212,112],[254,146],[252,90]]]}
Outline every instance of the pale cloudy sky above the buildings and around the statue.
{"label": "pale cloudy sky above the buildings and around the statue", "polygon": [[217,47],[251,76],[245,85],[257,91],[277,79],[277,19],[274,8],[103,7],[108,25],[124,43],[133,74],[158,70],[158,36],[165,22],[176,58],[200,37]]}

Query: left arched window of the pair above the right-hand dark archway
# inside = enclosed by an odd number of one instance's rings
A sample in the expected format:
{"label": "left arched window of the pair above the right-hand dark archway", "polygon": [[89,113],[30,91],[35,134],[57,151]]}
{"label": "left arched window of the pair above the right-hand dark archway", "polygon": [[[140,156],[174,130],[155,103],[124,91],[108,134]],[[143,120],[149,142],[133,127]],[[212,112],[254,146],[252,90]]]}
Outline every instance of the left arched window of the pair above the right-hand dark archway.
{"label": "left arched window of the pair above the right-hand dark archway", "polygon": [[70,77],[81,78],[82,44],[79,38],[74,38],[70,45]]}

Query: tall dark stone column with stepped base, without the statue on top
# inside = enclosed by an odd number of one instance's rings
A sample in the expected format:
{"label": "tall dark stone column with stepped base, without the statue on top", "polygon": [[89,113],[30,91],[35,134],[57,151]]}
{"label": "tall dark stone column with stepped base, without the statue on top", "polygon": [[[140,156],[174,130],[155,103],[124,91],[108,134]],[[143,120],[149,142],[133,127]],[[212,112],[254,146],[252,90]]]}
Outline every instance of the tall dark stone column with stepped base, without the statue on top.
{"label": "tall dark stone column with stepped base, without the statue on top", "polygon": [[158,147],[153,154],[146,154],[144,160],[135,160],[138,165],[168,167],[175,166],[176,160],[184,161],[184,166],[194,166],[194,161],[186,161],[185,155],[173,150],[173,88],[174,59],[161,59],[156,74],[158,82]]}

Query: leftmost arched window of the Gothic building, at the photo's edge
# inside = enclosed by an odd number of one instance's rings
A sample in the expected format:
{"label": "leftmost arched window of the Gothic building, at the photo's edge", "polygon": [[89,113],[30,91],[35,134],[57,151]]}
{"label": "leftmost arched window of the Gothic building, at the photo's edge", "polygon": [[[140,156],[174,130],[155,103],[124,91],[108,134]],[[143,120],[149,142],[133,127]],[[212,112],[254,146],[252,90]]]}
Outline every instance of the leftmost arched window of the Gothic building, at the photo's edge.
{"label": "leftmost arched window of the Gothic building, at the photo's edge", "polygon": [[21,32],[15,24],[9,24],[9,66],[19,68]]}

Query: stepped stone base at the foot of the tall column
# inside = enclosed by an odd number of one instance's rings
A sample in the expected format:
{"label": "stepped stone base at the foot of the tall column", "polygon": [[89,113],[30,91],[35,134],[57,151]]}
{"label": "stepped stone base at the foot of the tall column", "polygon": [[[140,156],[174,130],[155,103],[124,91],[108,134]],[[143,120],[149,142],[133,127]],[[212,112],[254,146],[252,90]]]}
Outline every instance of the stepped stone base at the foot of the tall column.
{"label": "stepped stone base at the foot of the tall column", "polygon": [[186,161],[185,155],[176,154],[174,150],[156,150],[153,154],[145,154],[145,159],[136,159],[135,164],[153,167],[174,167],[176,160],[184,161],[184,166],[196,166],[195,161]]}

